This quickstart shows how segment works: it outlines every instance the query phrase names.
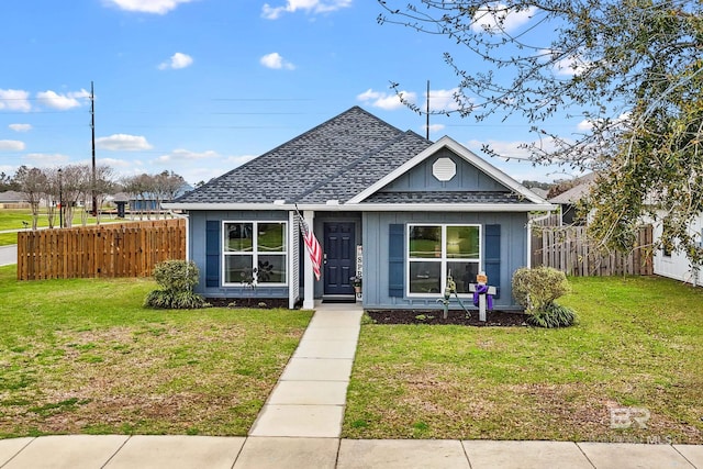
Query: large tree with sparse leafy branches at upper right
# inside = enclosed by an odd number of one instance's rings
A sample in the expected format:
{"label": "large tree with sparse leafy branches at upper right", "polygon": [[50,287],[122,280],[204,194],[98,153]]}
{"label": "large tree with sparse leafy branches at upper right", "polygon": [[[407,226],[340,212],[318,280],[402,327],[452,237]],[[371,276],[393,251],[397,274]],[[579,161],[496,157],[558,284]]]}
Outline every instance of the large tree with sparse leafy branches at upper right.
{"label": "large tree with sparse leafy branches at upper right", "polygon": [[[649,214],[665,243],[703,260],[689,232],[703,212],[703,2],[406,1],[378,0],[379,22],[447,36],[457,54],[471,51],[489,65],[475,71],[445,54],[458,85],[456,110],[444,112],[526,116],[538,136],[528,146],[534,161],[600,174],[592,231],[604,243],[632,247]],[[588,130],[561,137],[545,127],[557,118]]]}

